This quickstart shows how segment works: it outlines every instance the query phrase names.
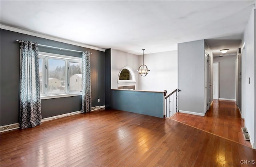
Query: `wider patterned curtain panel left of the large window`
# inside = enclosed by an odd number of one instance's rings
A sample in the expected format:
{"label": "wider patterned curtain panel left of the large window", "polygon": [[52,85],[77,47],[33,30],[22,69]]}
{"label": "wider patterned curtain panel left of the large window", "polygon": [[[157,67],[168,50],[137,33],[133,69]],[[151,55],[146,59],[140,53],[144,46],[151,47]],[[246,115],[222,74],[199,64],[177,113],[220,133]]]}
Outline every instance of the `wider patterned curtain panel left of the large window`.
{"label": "wider patterned curtain panel left of the large window", "polygon": [[38,44],[22,42],[20,51],[20,128],[41,124]]}

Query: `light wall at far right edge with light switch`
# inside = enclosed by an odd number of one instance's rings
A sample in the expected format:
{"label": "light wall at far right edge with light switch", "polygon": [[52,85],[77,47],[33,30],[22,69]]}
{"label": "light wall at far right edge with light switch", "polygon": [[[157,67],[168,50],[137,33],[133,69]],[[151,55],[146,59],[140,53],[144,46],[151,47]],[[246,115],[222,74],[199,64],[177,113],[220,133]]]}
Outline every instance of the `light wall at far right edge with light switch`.
{"label": "light wall at far right edge with light switch", "polygon": [[[244,30],[242,45],[242,115],[244,113],[244,124],[250,134],[250,142],[256,148],[256,110],[255,110],[255,33],[256,33],[256,10],[252,10],[247,26]],[[244,63],[243,63],[244,62]],[[250,78],[250,83],[249,83]],[[244,85],[244,87],[243,87]],[[244,89],[243,89],[244,88]],[[244,107],[243,107],[244,104]]]}

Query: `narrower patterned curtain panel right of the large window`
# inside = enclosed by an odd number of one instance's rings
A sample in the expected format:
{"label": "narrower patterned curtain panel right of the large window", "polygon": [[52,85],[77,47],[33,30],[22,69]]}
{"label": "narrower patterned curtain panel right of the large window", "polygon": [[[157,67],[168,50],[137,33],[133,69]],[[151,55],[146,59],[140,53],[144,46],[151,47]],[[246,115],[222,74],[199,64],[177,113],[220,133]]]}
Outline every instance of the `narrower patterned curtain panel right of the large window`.
{"label": "narrower patterned curtain panel right of the large window", "polygon": [[92,108],[90,52],[82,53],[82,89],[81,113],[87,113]]}

